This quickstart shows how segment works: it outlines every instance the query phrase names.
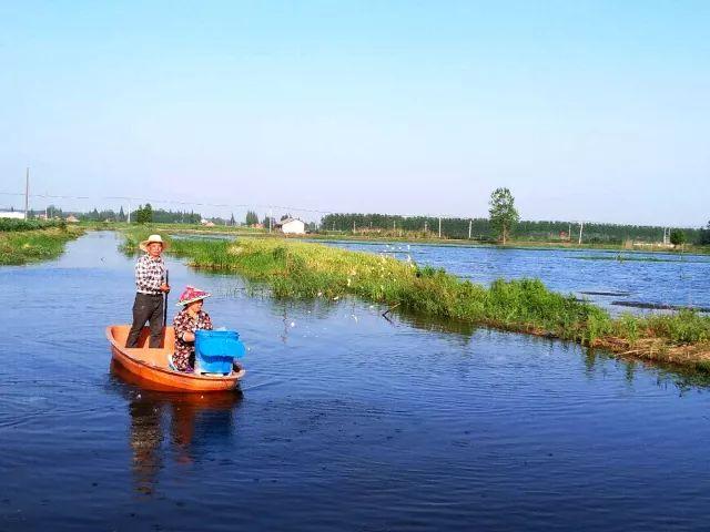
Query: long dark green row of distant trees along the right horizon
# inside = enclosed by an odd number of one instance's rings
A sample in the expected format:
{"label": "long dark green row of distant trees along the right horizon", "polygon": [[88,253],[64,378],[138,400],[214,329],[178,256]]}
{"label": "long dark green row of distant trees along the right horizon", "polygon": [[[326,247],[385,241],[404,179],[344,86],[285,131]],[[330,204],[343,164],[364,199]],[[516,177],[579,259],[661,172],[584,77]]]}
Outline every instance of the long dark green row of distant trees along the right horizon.
{"label": "long dark green row of distant trees along the right horizon", "polygon": [[[438,217],[398,216],[386,214],[327,214],[321,218],[321,231],[363,232],[367,229],[402,229],[438,235]],[[488,218],[442,218],[442,236],[445,238],[468,238],[470,224],[471,238],[494,241],[496,231]],[[706,229],[681,228],[686,242],[710,244],[710,223]],[[571,234],[570,234],[571,233]],[[516,239],[527,241],[576,241],[579,224],[561,221],[519,221],[513,231]],[[582,241],[586,243],[622,244],[632,239],[638,242],[661,242],[663,227],[647,225],[591,224],[585,223]]]}

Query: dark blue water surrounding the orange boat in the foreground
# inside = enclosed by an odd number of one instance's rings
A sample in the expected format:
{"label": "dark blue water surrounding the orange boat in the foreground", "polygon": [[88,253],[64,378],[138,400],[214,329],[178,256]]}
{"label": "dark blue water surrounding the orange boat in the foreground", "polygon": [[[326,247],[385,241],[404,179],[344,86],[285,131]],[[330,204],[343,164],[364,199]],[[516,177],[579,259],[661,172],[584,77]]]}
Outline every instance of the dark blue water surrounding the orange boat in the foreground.
{"label": "dark blue water surrounding the orange boat in the foreground", "polygon": [[2,531],[708,528],[703,382],[359,303],[251,298],[169,259],[175,291],[213,291],[248,374],[241,396],[150,393],[110,372],[103,328],[133,297],[116,244],[0,268]]}

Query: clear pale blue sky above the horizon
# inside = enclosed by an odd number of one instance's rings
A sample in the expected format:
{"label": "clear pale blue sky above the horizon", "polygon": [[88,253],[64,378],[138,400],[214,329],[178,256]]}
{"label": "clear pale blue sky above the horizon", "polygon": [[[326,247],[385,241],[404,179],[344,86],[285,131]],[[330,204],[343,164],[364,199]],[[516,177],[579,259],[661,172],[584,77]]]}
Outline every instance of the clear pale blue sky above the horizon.
{"label": "clear pale blue sky above the horizon", "polygon": [[527,219],[704,225],[710,2],[0,0],[0,192],[26,166],[92,198],[487,216],[507,186]]}

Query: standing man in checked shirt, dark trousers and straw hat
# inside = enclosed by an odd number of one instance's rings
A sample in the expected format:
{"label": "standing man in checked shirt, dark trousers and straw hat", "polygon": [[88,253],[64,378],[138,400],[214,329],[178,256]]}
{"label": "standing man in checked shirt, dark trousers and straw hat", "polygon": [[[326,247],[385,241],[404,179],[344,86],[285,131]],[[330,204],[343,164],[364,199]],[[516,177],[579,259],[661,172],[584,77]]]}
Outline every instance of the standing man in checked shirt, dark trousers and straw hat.
{"label": "standing man in checked shirt, dark trousers and straw hat", "polygon": [[135,301],[133,303],[133,326],[125,347],[138,347],[141,330],[148,320],[151,329],[150,347],[159,348],[163,330],[163,294],[168,286],[165,262],[161,256],[168,244],[160,235],[151,235],[139,246],[145,255],[135,263]]}

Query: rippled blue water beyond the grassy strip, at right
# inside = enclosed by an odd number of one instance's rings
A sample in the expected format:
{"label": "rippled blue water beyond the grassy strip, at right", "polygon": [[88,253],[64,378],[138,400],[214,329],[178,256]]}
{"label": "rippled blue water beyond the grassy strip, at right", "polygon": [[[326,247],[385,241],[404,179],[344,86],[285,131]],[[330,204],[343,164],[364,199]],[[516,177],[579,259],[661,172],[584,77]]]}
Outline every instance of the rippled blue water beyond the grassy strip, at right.
{"label": "rippled blue water beyond the grassy strip, at right", "polygon": [[[710,308],[710,257],[707,255],[400,243],[329,244],[347,249],[390,254],[403,260],[409,257],[422,266],[445,268],[474,283],[537,277],[554,290],[571,291],[616,311],[629,311],[630,308],[612,306],[613,301]],[[609,295],[586,294],[589,291]]]}

